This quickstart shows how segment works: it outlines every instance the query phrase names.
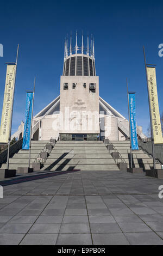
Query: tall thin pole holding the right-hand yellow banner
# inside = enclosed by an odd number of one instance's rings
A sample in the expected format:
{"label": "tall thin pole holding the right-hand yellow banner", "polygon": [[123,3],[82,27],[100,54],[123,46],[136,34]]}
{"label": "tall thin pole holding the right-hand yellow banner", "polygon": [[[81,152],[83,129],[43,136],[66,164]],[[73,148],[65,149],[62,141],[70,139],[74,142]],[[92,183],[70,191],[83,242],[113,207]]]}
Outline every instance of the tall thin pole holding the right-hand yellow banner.
{"label": "tall thin pole holding the right-hand yellow banner", "polygon": [[149,115],[150,115],[150,124],[151,124],[153,168],[155,169],[154,138],[153,138],[154,136],[153,136],[152,113],[151,113],[151,105],[150,105],[149,89],[148,89],[149,84],[148,84],[148,74],[147,74],[147,63],[146,63],[145,46],[143,46],[143,53],[144,53],[144,59],[145,59],[146,80],[147,80],[147,92],[148,92],[148,104],[149,104]]}

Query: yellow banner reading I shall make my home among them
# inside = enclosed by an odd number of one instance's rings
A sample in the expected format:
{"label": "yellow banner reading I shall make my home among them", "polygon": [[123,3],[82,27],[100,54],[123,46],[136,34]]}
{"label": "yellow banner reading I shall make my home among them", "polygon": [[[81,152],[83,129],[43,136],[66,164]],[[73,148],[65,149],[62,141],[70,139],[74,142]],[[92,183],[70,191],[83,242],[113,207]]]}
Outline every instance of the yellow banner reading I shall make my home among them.
{"label": "yellow banner reading I shall make my home among them", "polygon": [[162,139],[162,131],[161,131],[161,121],[160,121],[155,68],[147,67],[147,76],[148,76],[149,100],[150,100],[150,107],[151,107],[151,113],[152,113],[154,144],[160,144],[160,143],[163,143],[163,139]]}

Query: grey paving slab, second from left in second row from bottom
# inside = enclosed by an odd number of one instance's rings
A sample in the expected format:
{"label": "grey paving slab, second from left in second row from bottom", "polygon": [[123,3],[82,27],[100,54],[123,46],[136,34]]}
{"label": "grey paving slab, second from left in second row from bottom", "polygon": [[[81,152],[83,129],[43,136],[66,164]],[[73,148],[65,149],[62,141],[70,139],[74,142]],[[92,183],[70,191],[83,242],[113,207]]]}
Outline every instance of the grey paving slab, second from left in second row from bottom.
{"label": "grey paving slab, second from left in second row from bottom", "polygon": [[35,223],[28,233],[30,234],[58,234],[59,223]]}

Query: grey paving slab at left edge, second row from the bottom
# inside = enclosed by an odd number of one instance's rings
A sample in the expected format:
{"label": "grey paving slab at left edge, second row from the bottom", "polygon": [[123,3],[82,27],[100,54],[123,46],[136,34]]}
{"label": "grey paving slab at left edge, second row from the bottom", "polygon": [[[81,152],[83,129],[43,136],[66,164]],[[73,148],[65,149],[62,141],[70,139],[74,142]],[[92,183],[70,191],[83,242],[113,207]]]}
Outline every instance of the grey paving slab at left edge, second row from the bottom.
{"label": "grey paving slab at left edge, second row from the bottom", "polygon": [[0,228],[0,233],[13,233],[13,234],[19,234],[19,233],[27,233],[27,231],[32,226],[32,223],[7,223],[4,224],[2,228]]}

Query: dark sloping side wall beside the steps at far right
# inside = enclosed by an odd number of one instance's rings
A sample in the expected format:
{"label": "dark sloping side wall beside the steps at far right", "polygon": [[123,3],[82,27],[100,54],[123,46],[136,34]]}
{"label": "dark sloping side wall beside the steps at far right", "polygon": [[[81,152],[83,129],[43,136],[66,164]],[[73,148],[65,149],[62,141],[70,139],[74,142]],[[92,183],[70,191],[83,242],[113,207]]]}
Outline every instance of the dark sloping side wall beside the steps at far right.
{"label": "dark sloping side wall beside the steps at far right", "polygon": [[[149,155],[152,155],[152,142],[143,142],[139,139],[139,146],[146,150]],[[158,159],[163,164],[163,144],[154,145],[155,158]]]}

